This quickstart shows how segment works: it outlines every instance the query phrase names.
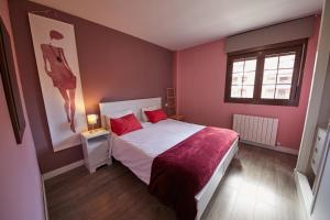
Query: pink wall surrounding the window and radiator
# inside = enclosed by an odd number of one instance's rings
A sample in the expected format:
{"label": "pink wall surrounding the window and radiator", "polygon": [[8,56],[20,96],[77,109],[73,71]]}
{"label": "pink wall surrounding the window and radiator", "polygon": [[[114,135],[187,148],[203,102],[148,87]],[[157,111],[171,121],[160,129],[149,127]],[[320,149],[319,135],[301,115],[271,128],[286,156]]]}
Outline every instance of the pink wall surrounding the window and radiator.
{"label": "pink wall surrounding the window and radiator", "polygon": [[232,114],[251,114],[279,119],[277,142],[284,147],[299,148],[307,109],[320,19],[308,41],[299,107],[226,103],[224,40],[179,51],[174,56],[177,106],[187,121],[223,128],[232,127]]}

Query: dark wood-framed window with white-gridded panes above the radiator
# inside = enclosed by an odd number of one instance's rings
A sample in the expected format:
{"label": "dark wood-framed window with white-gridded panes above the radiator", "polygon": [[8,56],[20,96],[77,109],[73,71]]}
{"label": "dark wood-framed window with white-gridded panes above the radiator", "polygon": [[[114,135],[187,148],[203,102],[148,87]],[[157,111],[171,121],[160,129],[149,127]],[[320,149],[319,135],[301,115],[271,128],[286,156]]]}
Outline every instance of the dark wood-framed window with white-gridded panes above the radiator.
{"label": "dark wood-framed window with white-gridded panes above the radiator", "polygon": [[298,106],[307,40],[228,55],[227,102]]}

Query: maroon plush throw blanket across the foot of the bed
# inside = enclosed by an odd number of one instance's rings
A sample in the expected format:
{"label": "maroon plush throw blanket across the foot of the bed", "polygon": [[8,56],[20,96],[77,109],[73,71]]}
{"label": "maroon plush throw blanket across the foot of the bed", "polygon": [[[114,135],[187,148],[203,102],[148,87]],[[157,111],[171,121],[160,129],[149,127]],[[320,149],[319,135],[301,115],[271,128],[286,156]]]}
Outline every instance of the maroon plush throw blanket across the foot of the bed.
{"label": "maroon plush throw blanket across the foot of the bed", "polygon": [[153,161],[148,191],[173,207],[178,219],[194,220],[195,196],[237,138],[234,131],[208,127],[162,153]]}

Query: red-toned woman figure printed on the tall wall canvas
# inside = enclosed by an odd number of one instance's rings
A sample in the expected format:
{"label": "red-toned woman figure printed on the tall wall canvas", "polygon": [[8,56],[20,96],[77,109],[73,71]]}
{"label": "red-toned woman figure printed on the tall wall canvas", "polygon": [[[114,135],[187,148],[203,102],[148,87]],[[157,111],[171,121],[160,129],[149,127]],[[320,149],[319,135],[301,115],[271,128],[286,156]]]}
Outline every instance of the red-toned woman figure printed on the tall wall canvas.
{"label": "red-toned woman figure printed on the tall wall canvas", "polygon": [[50,32],[51,42],[48,44],[41,44],[43,53],[44,68],[46,74],[52,78],[53,86],[58,89],[64,99],[64,110],[67,121],[70,124],[70,130],[75,129],[75,97],[77,78],[73,74],[62,47],[54,46],[57,41],[64,38],[63,34],[52,30]]}

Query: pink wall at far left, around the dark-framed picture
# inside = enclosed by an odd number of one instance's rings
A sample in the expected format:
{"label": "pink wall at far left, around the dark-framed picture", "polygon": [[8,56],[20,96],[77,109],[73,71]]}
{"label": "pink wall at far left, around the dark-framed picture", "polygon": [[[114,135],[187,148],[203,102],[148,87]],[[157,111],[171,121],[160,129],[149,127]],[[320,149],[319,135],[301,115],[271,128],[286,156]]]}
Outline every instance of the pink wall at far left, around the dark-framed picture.
{"label": "pink wall at far left, around the dark-framed picture", "polygon": [[[0,0],[0,15],[12,37],[7,0]],[[15,58],[14,62],[19,73]],[[28,119],[26,112],[24,113]],[[23,143],[16,145],[2,81],[0,82],[0,219],[45,219],[41,174],[30,125],[28,122]]]}

